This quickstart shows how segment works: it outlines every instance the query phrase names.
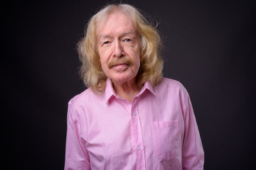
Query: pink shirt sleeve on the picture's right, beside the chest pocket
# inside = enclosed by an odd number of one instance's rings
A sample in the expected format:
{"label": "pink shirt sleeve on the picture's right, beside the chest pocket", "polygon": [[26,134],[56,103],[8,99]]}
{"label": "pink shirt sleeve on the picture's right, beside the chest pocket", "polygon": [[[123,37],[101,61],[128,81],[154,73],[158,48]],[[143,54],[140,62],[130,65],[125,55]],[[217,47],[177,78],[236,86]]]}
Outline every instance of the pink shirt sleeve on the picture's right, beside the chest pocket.
{"label": "pink shirt sleeve on the picture's right, beside the chest pocket", "polygon": [[186,95],[184,117],[184,136],[182,148],[182,169],[183,170],[203,170],[204,152],[201,137],[196,123],[196,117],[193,113],[191,100]]}

